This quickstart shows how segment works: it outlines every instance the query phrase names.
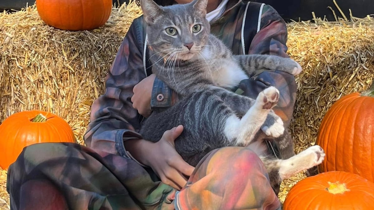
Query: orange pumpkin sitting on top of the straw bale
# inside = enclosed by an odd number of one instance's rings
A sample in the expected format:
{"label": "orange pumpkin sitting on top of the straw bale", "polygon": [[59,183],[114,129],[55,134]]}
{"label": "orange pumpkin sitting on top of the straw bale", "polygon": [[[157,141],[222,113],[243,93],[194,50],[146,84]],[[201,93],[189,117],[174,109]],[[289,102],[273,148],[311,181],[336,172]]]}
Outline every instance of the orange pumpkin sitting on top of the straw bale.
{"label": "orange pumpkin sitting on top of the straw bale", "polygon": [[107,22],[112,0],[37,0],[40,18],[52,27],[82,31],[98,28]]}

